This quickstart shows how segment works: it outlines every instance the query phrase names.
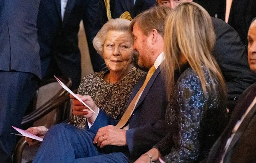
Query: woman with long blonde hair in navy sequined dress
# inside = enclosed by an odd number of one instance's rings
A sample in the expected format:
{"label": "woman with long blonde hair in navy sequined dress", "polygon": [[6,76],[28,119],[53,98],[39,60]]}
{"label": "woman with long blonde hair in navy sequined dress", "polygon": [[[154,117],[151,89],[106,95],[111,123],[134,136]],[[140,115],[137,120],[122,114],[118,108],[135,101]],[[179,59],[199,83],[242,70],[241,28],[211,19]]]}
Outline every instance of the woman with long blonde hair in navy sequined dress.
{"label": "woman with long blonde hair in navy sequined dress", "polygon": [[226,85],[212,56],[215,35],[200,5],[182,2],[166,19],[164,65],[167,97],[166,137],[136,163],[163,156],[167,163],[199,162],[227,124]]}

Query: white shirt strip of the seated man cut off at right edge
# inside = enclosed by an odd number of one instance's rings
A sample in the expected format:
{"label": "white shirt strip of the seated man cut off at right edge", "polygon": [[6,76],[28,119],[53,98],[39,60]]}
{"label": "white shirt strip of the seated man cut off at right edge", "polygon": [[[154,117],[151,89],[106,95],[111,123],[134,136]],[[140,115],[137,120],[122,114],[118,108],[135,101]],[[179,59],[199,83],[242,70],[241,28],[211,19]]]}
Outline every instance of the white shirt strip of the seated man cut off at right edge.
{"label": "white shirt strip of the seated man cut off at right edge", "polygon": [[250,110],[252,109],[252,107],[255,105],[255,103],[256,103],[256,97],[254,98],[254,100],[252,101],[252,103],[250,104],[250,106],[248,107],[248,109],[246,110],[246,112],[244,113],[244,115],[241,117],[241,119],[236,122],[236,125],[235,125],[234,129],[232,130],[232,134],[231,134],[230,138],[228,138],[228,141],[227,141],[227,143],[226,143],[226,145],[225,145],[224,153],[223,153],[223,155],[222,155],[222,157],[221,157],[220,163],[223,163],[224,157],[225,157],[226,152],[227,152],[227,150],[228,150],[228,147],[230,146],[230,143],[231,143],[231,141],[232,141],[234,135],[236,134],[236,131],[238,130],[239,126],[241,125],[241,123],[242,123],[242,121],[244,120],[244,118],[246,117],[246,115],[249,113],[249,111],[250,111]]}

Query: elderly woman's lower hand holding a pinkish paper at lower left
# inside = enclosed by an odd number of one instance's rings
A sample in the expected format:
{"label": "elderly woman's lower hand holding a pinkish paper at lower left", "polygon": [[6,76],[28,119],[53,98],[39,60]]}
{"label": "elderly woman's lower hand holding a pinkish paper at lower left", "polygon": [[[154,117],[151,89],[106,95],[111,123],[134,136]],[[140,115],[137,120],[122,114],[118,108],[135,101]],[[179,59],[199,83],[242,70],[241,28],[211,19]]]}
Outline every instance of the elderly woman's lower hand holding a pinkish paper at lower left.
{"label": "elderly woman's lower hand holding a pinkish paper at lower left", "polygon": [[[30,127],[26,131],[28,131],[36,136],[44,137],[44,135],[47,133],[48,129],[44,126],[39,126],[39,127]],[[35,139],[31,139],[29,137],[25,137],[25,140],[28,141],[29,145],[36,145],[36,144],[40,143],[39,141],[37,141]]]}

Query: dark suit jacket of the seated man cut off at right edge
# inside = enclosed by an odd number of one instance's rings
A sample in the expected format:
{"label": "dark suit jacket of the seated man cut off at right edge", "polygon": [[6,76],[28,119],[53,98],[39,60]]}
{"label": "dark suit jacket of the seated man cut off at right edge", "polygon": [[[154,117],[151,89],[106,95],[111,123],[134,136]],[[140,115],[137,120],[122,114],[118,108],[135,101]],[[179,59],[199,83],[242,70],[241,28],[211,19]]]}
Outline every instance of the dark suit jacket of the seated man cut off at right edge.
{"label": "dark suit jacket of the seated man cut off at right edge", "polygon": [[[234,128],[236,122],[242,117],[248,105],[255,97],[256,83],[248,87],[241,95],[234,112],[231,115],[230,122],[222,135],[214,143],[207,159],[207,163],[214,163],[220,147],[226,144],[226,137],[229,137],[230,130]],[[253,96],[253,97],[252,97]],[[248,101],[248,98],[251,100]],[[230,146],[228,147],[224,163],[253,163],[256,162],[256,104],[242,121],[236,131]]]}

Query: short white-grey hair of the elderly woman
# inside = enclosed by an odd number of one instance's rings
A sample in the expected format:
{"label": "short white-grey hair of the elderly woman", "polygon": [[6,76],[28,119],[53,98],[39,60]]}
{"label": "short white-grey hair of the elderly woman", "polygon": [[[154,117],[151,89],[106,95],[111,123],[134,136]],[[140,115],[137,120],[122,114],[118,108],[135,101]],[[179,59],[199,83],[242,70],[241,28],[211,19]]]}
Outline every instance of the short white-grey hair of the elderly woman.
{"label": "short white-grey hair of the elderly woman", "polygon": [[[96,34],[95,38],[92,41],[92,44],[98,54],[100,56],[103,55],[103,46],[106,41],[106,34],[109,31],[123,31],[123,32],[130,32],[129,31],[129,25],[130,25],[130,20],[126,19],[111,19],[108,22],[106,22],[100,31]],[[132,37],[132,35],[130,35]],[[132,39],[131,39],[132,40]],[[132,42],[133,43],[133,42]]]}

